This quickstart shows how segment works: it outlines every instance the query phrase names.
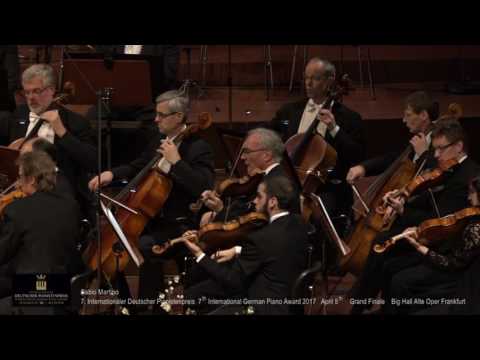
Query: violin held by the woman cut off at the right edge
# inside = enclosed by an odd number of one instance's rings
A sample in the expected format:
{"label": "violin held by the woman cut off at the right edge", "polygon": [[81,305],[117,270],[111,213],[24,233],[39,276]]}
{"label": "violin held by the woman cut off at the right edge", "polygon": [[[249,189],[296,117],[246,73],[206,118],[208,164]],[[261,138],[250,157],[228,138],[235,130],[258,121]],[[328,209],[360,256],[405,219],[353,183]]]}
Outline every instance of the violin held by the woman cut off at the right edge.
{"label": "violin held by the woman cut off at the right edge", "polygon": [[480,217],[479,207],[469,207],[439,219],[425,220],[416,230],[396,235],[388,239],[384,244],[376,244],[373,247],[373,251],[379,254],[383,253],[395,245],[398,240],[404,239],[407,236],[421,239],[420,243],[423,245],[432,245],[440,240],[446,241],[458,236],[468,223],[476,217]]}

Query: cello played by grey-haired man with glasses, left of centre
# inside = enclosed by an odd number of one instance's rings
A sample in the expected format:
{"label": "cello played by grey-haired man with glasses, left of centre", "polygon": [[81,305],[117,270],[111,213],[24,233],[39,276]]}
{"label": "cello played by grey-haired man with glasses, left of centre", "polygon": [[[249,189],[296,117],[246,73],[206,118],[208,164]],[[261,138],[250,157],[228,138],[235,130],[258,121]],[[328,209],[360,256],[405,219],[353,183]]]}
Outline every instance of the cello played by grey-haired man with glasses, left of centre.
{"label": "cello played by grey-haired man with glasses, left of centre", "polygon": [[[198,123],[187,124],[172,141],[178,145],[182,139],[208,128],[212,123],[209,113],[200,113]],[[172,189],[172,180],[163,174],[157,165],[163,156],[157,154],[114,198],[123,203],[135,213],[120,207],[116,218],[132,249],[138,252],[138,238],[147,222],[154,218],[168,199]],[[123,271],[129,262],[126,251],[115,251],[118,242],[117,235],[110,224],[101,226],[101,248],[96,241],[89,243],[83,253],[83,259],[91,270],[97,270],[99,265],[107,279],[112,279],[117,270]],[[100,259],[101,264],[99,264]],[[118,261],[118,262],[117,262]]]}

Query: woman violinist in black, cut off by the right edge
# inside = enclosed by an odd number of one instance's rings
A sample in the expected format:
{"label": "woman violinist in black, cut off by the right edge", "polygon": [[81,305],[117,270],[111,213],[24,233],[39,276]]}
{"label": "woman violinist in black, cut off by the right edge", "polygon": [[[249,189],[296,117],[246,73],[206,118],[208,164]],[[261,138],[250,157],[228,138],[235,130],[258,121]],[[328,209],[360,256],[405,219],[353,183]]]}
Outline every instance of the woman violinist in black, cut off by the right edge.
{"label": "woman violinist in black, cut off by the right edge", "polygon": [[[480,177],[476,177],[470,184],[469,201],[473,207],[480,206]],[[411,233],[417,231],[416,227],[408,228],[404,233]],[[464,277],[466,270],[471,266],[472,262],[478,259],[480,255],[480,221],[478,218],[470,220],[465,229],[458,234],[458,236],[449,243],[439,242],[438,247],[424,245],[414,234],[406,235],[405,240],[417,251],[417,256],[421,258],[418,265],[401,270],[397,273],[391,273],[394,270],[395,264],[391,262],[385,263],[385,272],[392,276],[390,291],[386,291],[386,313],[411,313],[431,307],[435,302],[420,302],[408,305],[405,302],[400,302],[400,305],[394,305],[393,299],[453,299],[460,283],[459,280]],[[412,254],[413,255],[413,254]],[[478,284],[478,280],[470,283],[468,286]],[[474,286],[474,285],[473,285]],[[478,285],[476,285],[478,289]],[[468,296],[469,289],[463,289],[467,293],[463,295]],[[473,289],[472,289],[473,293]],[[455,313],[455,307],[461,307],[469,304],[473,299],[467,298],[466,302],[460,302],[456,306],[452,305],[450,308]],[[446,305],[441,304],[440,305]],[[437,305],[438,305],[437,304]],[[431,309],[428,313],[435,313],[435,309]]]}

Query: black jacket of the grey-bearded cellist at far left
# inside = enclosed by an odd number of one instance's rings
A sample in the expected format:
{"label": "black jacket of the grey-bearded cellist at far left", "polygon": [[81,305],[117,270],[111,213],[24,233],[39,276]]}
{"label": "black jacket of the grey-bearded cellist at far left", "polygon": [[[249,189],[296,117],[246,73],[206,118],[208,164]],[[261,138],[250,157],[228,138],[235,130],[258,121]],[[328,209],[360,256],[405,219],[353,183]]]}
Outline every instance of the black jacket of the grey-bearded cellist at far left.
{"label": "black jacket of the grey-bearded cellist at far left", "polygon": [[[59,138],[55,135],[54,144],[57,148],[57,166],[73,186],[78,200],[83,207],[91,197],[87,184],[89,173],[97,169],[97,149],[93,145],[93,133],[90,123],[83,116],[64,107],[59,110],[60,118],[67,133]],[[21,105],[8,121],[6,131],[9,142],[24,137],[29,124],[30,110],[27,105]],[[85,209],[84,209],[85,210]]]}

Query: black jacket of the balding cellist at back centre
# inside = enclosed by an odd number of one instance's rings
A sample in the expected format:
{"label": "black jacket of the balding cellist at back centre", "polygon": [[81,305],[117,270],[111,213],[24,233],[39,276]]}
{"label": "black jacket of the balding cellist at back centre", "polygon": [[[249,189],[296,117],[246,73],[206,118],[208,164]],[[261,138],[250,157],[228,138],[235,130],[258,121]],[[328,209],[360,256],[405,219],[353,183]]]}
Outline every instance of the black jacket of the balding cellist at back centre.
{"label": "black jacket of the balding cellist at back centre", "polygon": [[[307,102],[308,99],[303,99],[287,104],[275,114],[270,126],[282,135],[284,141],[297,133]],[[332,138],[327,131],[325,140],[337,152],[337,164],[331,178],[340,180],[342,183],[338,186],[329,184],[323,191],[335,192],[340,208],[346,210],[350,208],[353,201],[351,188],[345,181],[347,172],[365,156],[363,122],[360,114],[338,102],[334,103],[332,113],[340,130],[335,138]]]}

